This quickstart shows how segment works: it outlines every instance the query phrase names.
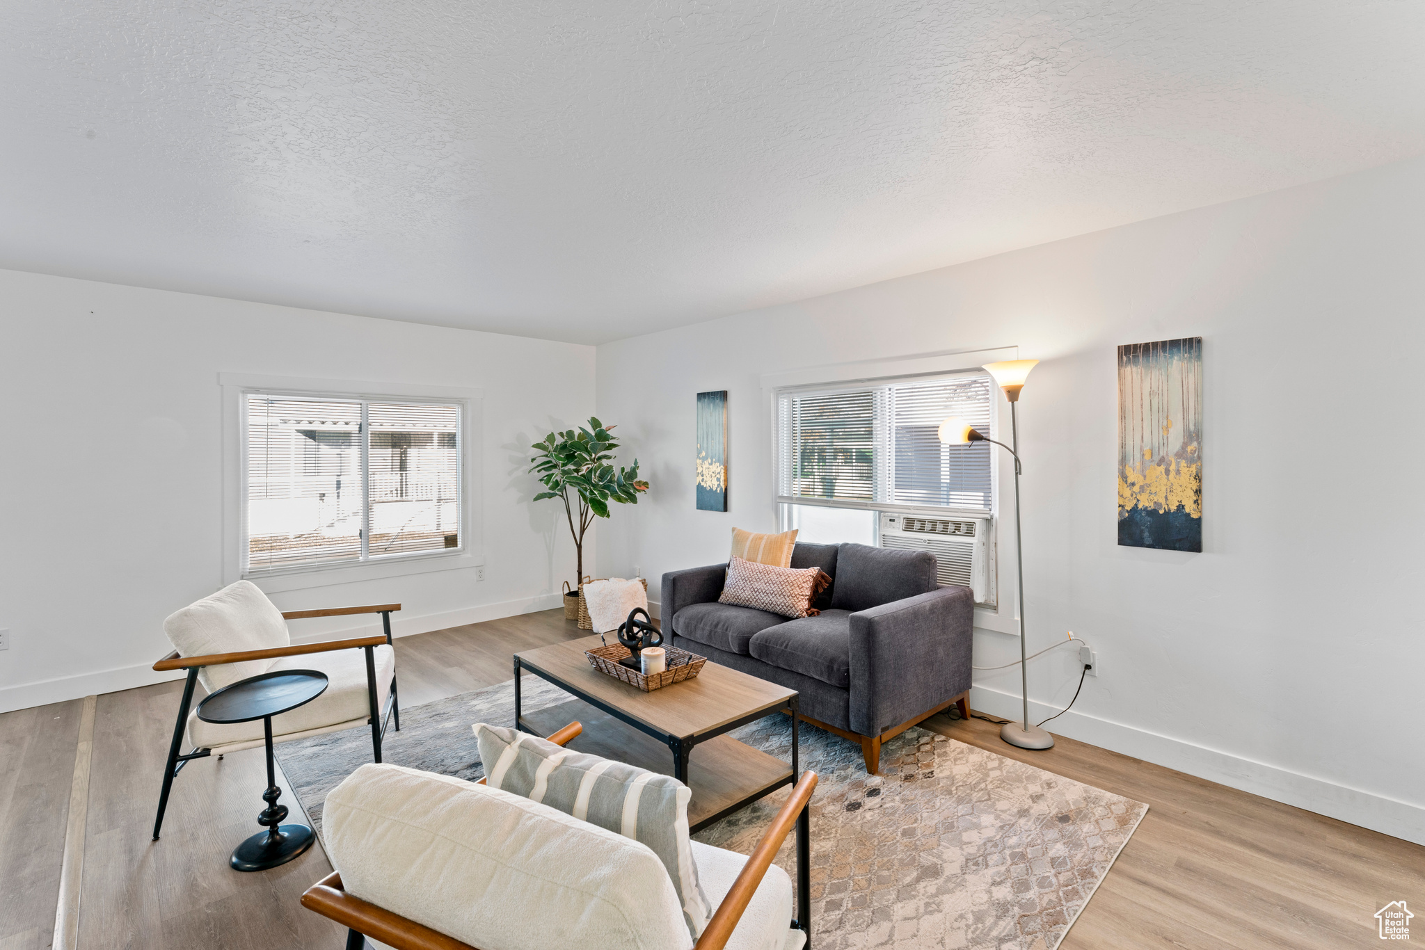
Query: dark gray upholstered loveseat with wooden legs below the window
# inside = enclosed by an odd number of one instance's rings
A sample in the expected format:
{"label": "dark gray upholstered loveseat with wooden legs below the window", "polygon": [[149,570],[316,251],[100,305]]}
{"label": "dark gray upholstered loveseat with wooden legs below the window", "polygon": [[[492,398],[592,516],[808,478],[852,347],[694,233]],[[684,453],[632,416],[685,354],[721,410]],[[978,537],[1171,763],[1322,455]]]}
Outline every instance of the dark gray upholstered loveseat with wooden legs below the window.
{"label": "dark gray upholstered loveseat with wooden legs below the window", "polygon": [[968,587],[939,587],[935,557],[865,544],[797,544],[792,567],[819,567],[832,584],[818,617],[717,602],[727,564],[663,575],[671,644],[801,694],[802,718],[861,743],[876,773],[881,743],[952,702],[969,716]]}

